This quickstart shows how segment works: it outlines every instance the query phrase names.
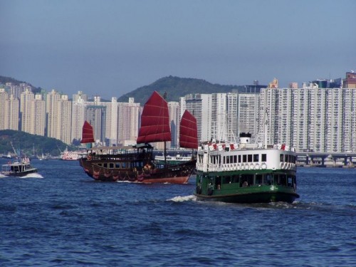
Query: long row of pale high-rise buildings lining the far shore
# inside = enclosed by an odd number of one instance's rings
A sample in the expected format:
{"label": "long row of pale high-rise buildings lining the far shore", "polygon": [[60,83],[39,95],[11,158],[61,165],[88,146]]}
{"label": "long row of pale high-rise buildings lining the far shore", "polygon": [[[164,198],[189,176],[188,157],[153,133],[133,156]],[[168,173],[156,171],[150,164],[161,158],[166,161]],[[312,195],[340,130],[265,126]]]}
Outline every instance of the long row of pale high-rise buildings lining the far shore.
{"label": "long row of pale high-rise buildings lining the far shore", "polygon": [[[253,89],[251,89],[253,88]],[[256,90],[257,88],[257,90]],[[290,83],[279,88],[255,83],[244,93],[192,93],[169,102],[172,142],[178,147],[179,120],[189,110],[198,123],[198,138],[236,142],[239,132],[251,132],[255,142],[286,143],[297,151],[356,151],[356,73],[345,79]],[[0,88],[0,130],[21,130],[53,137],[66,144],[81,139],[83,122],[93,125],[95,140],[104,145],[135,144],[142,106],[127,103],[88,101],[78,92],[72,99],[52,90],[32,93],[26,83],[6,83]],[[156,144],[157,148],[160,147]]]}

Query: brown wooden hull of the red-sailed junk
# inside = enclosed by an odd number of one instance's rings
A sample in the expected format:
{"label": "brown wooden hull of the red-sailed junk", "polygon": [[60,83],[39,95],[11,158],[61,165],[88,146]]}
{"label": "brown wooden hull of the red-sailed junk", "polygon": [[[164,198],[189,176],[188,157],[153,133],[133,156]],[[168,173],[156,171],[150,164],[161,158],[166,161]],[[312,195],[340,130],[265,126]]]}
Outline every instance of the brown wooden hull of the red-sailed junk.
{"label": "brown wooden hull of the red-sailed junk", "polygon": [[[103,182],[142,182],[142,183],[169,183],[187,184],[190,175],[196,166],[196,160],[177,165],[168,165],[165,168],[143,167],[142,169],[115,169],[105,166],[104,162],[82,158],[79,160],[84,172],[95,180]],[[112,164],[115,166],[115,164]]]}

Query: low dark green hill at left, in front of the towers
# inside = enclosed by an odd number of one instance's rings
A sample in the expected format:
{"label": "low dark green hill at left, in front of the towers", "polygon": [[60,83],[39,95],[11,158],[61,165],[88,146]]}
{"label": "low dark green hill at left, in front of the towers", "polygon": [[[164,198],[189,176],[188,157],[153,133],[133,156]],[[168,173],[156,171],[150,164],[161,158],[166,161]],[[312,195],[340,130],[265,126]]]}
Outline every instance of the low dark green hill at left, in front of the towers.
{"label": "low dark green hill at left, in front of the towers", "polygon": [[[16,151],[21,150],[21,154],[28,156],[42,155],[42,153],[58,156],[61,151],[68,147],[68,145],[55,138],[31,135],[21,131],[0,130],[0,154],[7,154],[8,152],[14,154],[11,142]],[[68,150],[71,149],[73,147],[68,147]]]}

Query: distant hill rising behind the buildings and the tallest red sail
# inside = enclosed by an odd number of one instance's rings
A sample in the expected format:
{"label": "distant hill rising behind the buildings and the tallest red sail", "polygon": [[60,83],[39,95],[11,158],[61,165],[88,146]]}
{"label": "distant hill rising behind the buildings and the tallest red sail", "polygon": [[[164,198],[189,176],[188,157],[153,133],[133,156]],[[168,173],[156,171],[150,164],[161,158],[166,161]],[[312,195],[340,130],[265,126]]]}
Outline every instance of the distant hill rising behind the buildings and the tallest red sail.
{"label": "distant hill rising behind the buildings and the tallest red sail", "polygon": [[189,93],[229,93],[231,90],[241,91],[243,89],[244,86],[239,85],[219,85],[201,79],[169,76],[122,95],[117,99],[117,102],[127,102],[129,98],[135,98],[136,103],[144,105],[155,90],[160,95],[167,92],[167,101],[179,101],[180,97]]}

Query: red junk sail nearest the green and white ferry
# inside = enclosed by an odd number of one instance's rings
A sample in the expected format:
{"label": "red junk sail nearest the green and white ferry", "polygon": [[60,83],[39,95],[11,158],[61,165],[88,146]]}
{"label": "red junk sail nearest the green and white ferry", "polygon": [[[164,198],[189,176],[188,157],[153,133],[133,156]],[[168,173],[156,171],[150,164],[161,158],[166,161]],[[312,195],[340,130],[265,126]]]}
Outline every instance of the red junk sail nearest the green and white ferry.
{"label": "red junk sail nearest the green and white ferry", "polygon": [[179,126],[179,147],[198,148],[197,119],[185,110]]}

